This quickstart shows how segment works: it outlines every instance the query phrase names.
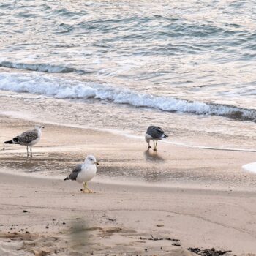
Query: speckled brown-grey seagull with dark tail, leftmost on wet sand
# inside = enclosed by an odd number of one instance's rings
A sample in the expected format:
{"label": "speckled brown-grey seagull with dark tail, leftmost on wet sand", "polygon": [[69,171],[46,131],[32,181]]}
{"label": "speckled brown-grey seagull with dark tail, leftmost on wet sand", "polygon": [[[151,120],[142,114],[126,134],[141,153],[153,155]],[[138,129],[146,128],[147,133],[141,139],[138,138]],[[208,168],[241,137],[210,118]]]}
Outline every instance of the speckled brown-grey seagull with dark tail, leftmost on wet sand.
{"label": "speckled brown-grey seagull with dark tail, leftmost on wet sand", "polygon": [[26,157],[29,157],[29,146],[30,146],[30,157],[32,157],[32,146],[37,144],[42,135],[41,125],[36,125],[34,129],[23,132],[21,135],[16,136],[12,140],[4,141],[7,144],[18,144],[26,146]]}

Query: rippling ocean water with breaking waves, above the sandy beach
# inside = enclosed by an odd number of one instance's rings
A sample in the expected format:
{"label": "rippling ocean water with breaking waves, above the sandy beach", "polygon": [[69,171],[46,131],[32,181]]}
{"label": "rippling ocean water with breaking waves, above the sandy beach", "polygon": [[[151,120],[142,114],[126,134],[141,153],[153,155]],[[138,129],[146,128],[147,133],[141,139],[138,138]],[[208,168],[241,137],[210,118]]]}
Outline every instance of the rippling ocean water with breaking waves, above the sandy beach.
{"label": "rippling ocean water with breaking waves, above the sandy beach", "polygon": [[255,1],[7,0],[0,17],[2,111],[255,136]]}

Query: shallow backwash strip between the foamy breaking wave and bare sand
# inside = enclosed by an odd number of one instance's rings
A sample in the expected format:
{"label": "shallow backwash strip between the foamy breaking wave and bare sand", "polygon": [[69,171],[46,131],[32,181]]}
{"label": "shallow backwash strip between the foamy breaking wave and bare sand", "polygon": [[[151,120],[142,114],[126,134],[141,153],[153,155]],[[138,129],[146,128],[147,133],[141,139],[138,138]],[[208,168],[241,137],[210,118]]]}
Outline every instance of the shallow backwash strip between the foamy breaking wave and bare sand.
{"label": "shallow backwash strip between the foamy breaking wave and bare sand", "polygon": [[[148,124],[157,124],[170,135],[170,140],[188,146],[254,149],[255,124],[218,116],[195,116],[182,113],[163,113],[127,105],[110,104],[93,99],[54,99],[37,94],[1,91],[0,113],[48,124],[97,128],[103,132],[142,136]],[[10,102],[8,106],[5,102]],[[30,106],[33,106],[31,110]],[[58,115],[56,115],[58,113]],[[97,113],[97,114],[96,114]],[[108,113],[113,113],[105,119]],[[72,124],[72,125],[70,125]]]}

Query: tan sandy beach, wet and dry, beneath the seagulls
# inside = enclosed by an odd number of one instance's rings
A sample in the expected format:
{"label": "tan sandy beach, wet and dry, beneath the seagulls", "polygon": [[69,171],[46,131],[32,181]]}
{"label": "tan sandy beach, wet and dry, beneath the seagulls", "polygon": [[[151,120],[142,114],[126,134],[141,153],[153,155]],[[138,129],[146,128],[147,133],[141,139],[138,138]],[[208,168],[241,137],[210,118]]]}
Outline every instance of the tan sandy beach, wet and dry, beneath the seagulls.
{"label": "tan sandy beach, wet and dry, beneath the seagulls", "polygon": [[[34,125],[0,120],[1,141]],[[135,138],[45,127],[33,159],[25,147],[1,148],[1,255],[256,254],[256,177],[241,170],[255,153],[161,143],[153,154]],[[100,162],[90,195],[63,180],[89,153]],[[173,183],[161,185],[165,170]]]}

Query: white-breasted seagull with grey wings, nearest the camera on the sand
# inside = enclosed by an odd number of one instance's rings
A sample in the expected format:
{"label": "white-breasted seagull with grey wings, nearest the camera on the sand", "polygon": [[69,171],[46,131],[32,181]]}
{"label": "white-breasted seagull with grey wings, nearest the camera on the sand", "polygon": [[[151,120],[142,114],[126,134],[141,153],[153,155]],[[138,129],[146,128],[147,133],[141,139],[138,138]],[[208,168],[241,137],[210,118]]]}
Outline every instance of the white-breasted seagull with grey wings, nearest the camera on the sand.
{"label": "white-breasted seagull with grey wings, nearest the camera on the sand", "polygon": [[[84,160],[83,164],[77,165],[72,173],[64,179],[64,181],[72,180],[78,181],[79,183],[83,183],[83,192],[84,193],[93,193],[91,189],[89,189],[86,184],[87,181],[91,181],[92,178],[96,175],[97,167],[99,162],[96,161],[96,158],[92,155],[89,155]],[[86,192],[87,191],[87,192]]]}

